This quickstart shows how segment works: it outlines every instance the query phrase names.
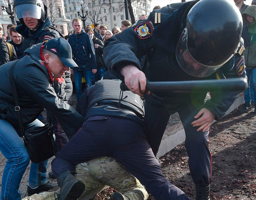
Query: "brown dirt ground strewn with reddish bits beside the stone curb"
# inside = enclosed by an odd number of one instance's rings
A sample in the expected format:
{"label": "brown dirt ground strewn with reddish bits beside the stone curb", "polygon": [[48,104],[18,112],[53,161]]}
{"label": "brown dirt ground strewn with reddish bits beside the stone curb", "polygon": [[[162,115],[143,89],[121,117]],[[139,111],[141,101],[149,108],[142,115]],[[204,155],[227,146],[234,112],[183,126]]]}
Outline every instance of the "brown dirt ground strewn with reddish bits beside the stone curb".
{"label": "brown dirt ground strewn with reddish bits beside the stone curb", "polygon": [[[234,110],[210,128],[211,200],[256,200],[256,114]],[[161,158],[164,176],[195,199],[184,143]],[[108,188],[94,200],[109,200]],[[148,198],[154,200],[152,196]]]}

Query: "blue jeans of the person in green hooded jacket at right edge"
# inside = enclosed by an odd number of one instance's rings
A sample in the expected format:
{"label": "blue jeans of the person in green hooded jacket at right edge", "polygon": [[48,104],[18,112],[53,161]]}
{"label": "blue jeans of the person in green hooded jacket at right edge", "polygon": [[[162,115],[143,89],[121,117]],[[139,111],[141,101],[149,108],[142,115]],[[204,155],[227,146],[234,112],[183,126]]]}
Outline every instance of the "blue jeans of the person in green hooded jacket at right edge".
{"label": "blue jeans of the person in green hooded jacket at right edge", "polygon": [[[247,105],[250,104],[251,100],[254,100],[256,103],[256,68],[246,70],[246,76],[248,81],[248,88],[244,91],[244,101]],[[250,92],[253,89],[253,93]]]}

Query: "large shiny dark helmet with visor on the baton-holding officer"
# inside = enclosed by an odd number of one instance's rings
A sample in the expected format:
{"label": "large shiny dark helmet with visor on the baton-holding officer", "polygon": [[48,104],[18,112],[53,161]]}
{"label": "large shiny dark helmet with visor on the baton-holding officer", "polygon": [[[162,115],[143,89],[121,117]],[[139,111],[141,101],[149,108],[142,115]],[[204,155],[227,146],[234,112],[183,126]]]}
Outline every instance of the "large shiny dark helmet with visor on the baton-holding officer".
{"label": "large shiny dark helmet with visor on the baton-holding officer", "polygon": [[200,0],[188,12],[180,35],[178,64],[192,76],[210,76],[234,56],[241,34],[242,16],[234,2]]}

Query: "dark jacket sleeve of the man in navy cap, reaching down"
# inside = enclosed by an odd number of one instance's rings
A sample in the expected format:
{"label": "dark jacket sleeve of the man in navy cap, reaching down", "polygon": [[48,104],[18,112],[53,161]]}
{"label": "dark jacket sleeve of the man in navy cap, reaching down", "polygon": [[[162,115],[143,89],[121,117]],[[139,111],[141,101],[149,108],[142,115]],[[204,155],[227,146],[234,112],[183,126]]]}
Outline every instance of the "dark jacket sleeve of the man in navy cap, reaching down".
{"label": "dark jacket sleeve of the man in navy cap, reaching down", "polygon": [[56,116],[68,138],[76,134],[82,126],[84,118],[56,96],[48,77],[38,66],[31,64],[25,68],[14,69],[14,78],[16,84],[24,90],[26,95]]}

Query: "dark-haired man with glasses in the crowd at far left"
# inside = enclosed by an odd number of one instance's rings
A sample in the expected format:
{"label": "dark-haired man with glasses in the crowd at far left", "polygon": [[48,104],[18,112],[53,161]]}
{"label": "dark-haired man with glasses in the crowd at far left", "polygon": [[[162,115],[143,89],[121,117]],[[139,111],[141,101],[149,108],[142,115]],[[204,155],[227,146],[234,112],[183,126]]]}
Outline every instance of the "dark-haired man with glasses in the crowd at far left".
{"label": "dark-haired man with glasses in the crowd at far left", "polygon": [[14,46],[14,49],[16,51],[17,54],[17,58],[20,59],[22,58],[23,55],[23,48],[22,48],[22,44],[23,44],[23,40],[22,40],[22,36],[21,34],[19,34],[16,30],[15,30],[16,26],[12,26],[9,30],[10,30],[10,35],[12,36],[12,40],[10,41],[10,44],[12,44]]}

